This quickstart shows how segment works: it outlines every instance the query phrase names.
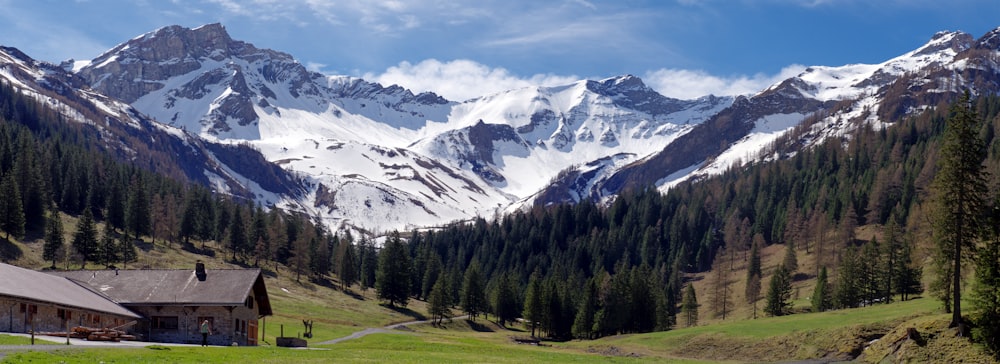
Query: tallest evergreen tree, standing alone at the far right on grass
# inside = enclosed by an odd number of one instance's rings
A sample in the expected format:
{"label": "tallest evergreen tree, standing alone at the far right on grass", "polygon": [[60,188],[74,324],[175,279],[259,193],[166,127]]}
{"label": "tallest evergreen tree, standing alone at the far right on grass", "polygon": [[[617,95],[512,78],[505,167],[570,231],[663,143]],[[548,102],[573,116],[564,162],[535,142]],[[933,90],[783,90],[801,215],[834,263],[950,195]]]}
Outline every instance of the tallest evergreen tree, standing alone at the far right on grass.
{"label": "tallest evergreen tree, standing alone at the far right on grass", "polygon": [[[939,279],[951,280],[944,292],[951,294],[952,319],[950,327],[962,322],[962,261],[966,259],[983,226],[986,207],[987,173],[983,168],[986,146],[979,137],[979,116],[972,109],[969,92],[950,109],[945,128],[939,171],[934,177],[937,204],[934,215],[934,240],[938,244],[939,267],[950,269],[939,272]],[[950,291],[950,292],[947,292]]]}

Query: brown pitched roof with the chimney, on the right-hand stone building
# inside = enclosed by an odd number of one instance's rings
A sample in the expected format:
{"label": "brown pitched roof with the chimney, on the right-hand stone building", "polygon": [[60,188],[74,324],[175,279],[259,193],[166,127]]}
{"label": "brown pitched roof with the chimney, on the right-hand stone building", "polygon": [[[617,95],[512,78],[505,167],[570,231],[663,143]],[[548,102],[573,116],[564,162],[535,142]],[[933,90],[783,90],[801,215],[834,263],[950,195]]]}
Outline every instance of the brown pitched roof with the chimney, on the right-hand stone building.
{"label": "brown pitched roof with the chimney, on the right-hand stone building", "polygon": [[205,280],[194,270],[177,269],[50,273],[81,282],[125,306],[241,306],[254,293],[260,314],[272,314],[260,269],[210,269]]}

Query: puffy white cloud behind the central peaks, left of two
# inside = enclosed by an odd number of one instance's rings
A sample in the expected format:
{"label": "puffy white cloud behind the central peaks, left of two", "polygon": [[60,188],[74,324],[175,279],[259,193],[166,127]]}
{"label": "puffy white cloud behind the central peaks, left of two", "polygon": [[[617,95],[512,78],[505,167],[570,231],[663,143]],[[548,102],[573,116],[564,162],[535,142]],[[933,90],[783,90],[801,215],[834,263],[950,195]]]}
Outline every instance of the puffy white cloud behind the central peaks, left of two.
{"label": "puffy white cloud behind the central peaks, left of two", "polygon": [[399,85],[413,92],[432,91],[455,101],[523,87],[565,85],[580,79],[553,74],[525,78],[504,68],[492,68],[465,59],[448,62],[428,59],[416,64],[404,61],[381,74],[365,74],[364,78],[386,86]]}

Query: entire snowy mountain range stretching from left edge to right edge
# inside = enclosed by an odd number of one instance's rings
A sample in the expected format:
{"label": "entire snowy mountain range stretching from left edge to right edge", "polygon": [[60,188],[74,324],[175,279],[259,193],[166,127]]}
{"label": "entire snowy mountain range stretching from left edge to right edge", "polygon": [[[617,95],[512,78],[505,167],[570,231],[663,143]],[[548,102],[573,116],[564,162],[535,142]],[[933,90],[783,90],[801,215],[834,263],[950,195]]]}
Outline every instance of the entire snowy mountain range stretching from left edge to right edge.
{"label": "entire snowy mountain range stretching from left edge to right edge", "polygon": [[624,75],[454,101],[312,72],[209,24],[60,65],[0,48],[0,80],[98,128],[122,159],[377,233],[786,158],[966,89],[996,93],[998,60],[1000,28],[940,32],[883,63],[814,66],[752,95],[678,100]]}

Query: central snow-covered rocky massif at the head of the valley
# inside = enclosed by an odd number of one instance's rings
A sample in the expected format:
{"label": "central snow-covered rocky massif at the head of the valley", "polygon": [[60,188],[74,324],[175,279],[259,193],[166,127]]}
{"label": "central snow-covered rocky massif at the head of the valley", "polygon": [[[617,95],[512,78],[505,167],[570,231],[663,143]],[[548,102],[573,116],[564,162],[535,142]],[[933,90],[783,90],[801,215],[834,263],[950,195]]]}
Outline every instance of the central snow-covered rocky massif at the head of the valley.
{"label": "central snow-covered rocky massif at the head of the valley", "polygon": [[457,103],[310,72],[218,24],[144,34],[77,74],[165,124],[249,143],[316,186],[262,202],[382,231],[492,216],[567,167],[656,152],[732,102],[669,99],[623,76]]}

